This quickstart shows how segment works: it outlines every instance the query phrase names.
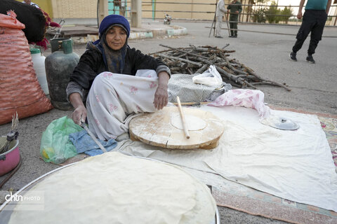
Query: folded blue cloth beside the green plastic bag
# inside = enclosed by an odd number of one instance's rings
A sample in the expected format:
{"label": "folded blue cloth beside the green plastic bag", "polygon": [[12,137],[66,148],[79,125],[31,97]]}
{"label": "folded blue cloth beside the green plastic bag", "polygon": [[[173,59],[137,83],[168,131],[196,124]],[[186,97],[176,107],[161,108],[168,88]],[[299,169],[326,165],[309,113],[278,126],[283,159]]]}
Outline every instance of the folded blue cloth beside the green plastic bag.
{"label": "folded blue cloth beside the green plastic bag", "polygon": [[[82,130],[81,132],[74,132],[69,135],[70,141],[74,144],[77,153],[86,153],[87,155],[100,155],[103,151],[100,149],[98,144],[91,139],[90,135],[86,130]],[[99,140],[100,144],[107,150],[111,151],[113,148],[117,146],[117,141],[114,139],[109,139],[109,141]]]}

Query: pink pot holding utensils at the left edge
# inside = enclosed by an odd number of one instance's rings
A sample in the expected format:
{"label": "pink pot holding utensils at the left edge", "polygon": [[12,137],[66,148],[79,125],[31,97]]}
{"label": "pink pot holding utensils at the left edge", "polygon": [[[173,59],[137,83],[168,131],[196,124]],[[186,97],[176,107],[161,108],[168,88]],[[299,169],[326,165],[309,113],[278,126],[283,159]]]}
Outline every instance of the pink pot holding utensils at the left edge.
{"label": "pink pot holding utensils at the left edge", "polygon": [[[6,137],[0,137],[0,145],[4,145]],[[9,144],[9,150],[0,154],[0,176],[7,174],[20,162],[19,140],[13,140]]]}

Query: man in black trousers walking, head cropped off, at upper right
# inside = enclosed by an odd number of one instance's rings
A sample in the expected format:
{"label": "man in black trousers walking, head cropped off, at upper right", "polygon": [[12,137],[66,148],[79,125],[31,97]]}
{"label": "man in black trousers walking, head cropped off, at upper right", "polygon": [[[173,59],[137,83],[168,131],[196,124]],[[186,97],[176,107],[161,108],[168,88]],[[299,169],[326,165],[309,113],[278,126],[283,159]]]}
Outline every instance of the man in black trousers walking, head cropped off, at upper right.
{"label": "man in black trousers walking, head cropped off, at upper right", "polygon": [[[302,18],[302,8],[305,0],[300,1],[300,8],[298,8],[297,18]],[[296,36],[296,43],[293,45],[293,51],[290,53],[290,59],[297,62],[296,52],[302,48],[305,39],[310,35],[310,44],[308,48],[307,62],[315,64],[312,55],[315,53],[318,42],[322,40],[322,33],[326,19],[328,18],[331,0],[308,0],[305,6],[305,13],[303,15],[303,22],[300,25],[298,34]]]}

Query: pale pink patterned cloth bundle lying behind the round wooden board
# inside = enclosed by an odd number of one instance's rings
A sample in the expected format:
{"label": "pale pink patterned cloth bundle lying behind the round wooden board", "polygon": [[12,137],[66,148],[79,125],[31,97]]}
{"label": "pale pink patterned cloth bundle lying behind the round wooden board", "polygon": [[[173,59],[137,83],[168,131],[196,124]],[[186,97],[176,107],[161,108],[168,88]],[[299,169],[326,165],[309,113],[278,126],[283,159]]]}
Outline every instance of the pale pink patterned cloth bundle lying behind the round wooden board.
{"label": "pale pink patterned cloth bundle lying behind the round wooden board", "polygon": [[270,116],[269,106],[265,106],[263,100],[265,94],[260,90],[229,90],[220,95],[216,100],[207,104],[208,106],[244,106],[246,108],[256,109],[260,120]]}

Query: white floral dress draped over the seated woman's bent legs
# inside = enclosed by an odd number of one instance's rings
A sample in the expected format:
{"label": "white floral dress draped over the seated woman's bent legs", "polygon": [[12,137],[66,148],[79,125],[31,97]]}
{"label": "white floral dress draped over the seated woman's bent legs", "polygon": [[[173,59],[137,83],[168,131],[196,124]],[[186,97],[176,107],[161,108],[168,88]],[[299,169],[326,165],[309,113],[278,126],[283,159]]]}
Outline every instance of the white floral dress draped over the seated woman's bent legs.
{"label": "white floral dress draped over the seated woman's bent legs", "polygon": [[98,139],[116,139],[128,132],[128,123],[134,116],[156,111],[153,100],[158,86],[157,73],[152,70],[145,73],[126,76],[103,72],[96,76],[86,109],[89,129]]}

